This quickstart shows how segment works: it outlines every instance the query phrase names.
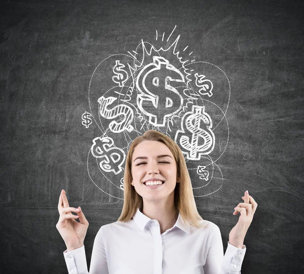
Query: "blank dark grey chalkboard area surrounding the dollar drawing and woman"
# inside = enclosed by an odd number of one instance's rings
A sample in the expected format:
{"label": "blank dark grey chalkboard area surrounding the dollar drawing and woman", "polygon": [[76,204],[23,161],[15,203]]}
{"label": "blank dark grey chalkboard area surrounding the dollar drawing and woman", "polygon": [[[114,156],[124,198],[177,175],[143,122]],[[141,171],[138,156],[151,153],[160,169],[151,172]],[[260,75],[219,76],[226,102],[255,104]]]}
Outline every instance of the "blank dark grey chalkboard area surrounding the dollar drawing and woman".
{"label": "blank dark grey chalkboard area surrounding the dollar drawing and woman", "polygon": [[[0,6],[0,243],[3,273],[67,273],[55,225],[62,188],[90,226],[88,265],[101,225],[122,201],[86,171],[96,132],[80,127],[90,77],[105,57],[155,30],[181,33],[196,58],[221,67],[232,98],[225,182],[196,199],[224,250],[249,190],[258,203],[243,273],[303,267],[303,4],[301,1],[2,1]],[[162,32],[161,32],[162,33]],[[97,135],[98,136],[98,135]]]}

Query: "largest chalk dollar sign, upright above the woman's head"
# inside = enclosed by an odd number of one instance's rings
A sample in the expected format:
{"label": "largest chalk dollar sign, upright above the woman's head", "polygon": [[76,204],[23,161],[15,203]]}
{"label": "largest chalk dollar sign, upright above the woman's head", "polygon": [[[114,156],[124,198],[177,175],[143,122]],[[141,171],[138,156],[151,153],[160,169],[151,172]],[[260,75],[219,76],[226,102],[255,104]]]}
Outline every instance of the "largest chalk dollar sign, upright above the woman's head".
{"label": "largest chalk dollar sign, upright above the woman's head", "polygon": [[168,82],[183,82],[182,73],[163,57],[153,56],[153,63],[146,65],[138,74],[136,87],[138,108],[147,116],[149,123],[165,126],[166,119],[178,112],[183,98]]}

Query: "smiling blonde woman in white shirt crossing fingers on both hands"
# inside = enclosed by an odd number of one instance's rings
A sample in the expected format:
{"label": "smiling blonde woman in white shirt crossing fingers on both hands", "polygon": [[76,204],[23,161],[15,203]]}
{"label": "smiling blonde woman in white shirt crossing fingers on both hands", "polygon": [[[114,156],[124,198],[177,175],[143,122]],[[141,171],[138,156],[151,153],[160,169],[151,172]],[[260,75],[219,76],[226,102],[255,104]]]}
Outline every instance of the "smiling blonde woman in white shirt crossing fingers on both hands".
{"label": "smiling blonde woman in white shirt crossing fingers on both hands", "polygon": [[[241,273],[243,242],[257,207],[248,191],[242,199],[223,256],[218,226],[197,211],[181,150],[166,135],[149,130],[130,146],[122,214],[99,229],[90,274]],[[63,254],[68,272],[89,273],[84,249],[89,223],[80,207],[69,207],[64,190],[58,210],[56,227],[67,247]]]}

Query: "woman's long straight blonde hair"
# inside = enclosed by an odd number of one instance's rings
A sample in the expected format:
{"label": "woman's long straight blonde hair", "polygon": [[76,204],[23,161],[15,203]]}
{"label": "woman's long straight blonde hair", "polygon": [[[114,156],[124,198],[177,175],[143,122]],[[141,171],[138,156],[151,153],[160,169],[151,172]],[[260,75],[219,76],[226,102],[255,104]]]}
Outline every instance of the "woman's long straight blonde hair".
{"label": "woman's long straight blonde hair", "polygon": [[179,183],[176,183],[174,189],[174,205],[177,212],[189,225],[201,227],[199,221],[203,220],[199,214],[191,184],[191,179],[186,166],[184,156],[179,146],[168,136],[156,130],[148,130],[142,136],[136,137],[130,145],[127,155],[125,174],[124,174],[124,205],[121,216],[118,221],[129,221],[139,208],[142,211],[142,197],[136,192],[131,185],[132,174],[132,155],[135,147],[143,141],[158,141],[164,143],[172,152],[177,168],[177,178]]}

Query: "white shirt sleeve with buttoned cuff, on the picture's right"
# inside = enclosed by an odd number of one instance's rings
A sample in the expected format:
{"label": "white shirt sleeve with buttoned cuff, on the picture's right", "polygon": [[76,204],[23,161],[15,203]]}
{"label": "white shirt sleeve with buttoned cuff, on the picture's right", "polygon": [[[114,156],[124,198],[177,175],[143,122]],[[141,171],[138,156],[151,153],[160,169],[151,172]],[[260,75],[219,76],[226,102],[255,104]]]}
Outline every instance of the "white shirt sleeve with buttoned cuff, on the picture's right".
{"label": "white shirt sleeve with buttoned cuff, on the picture's right", "polygon": [[241,267],[246,253],[246,246],[237,248],[229,242],[225,255],[219,227],[216,225],[211,235],[206,263],[205,274],[241,274]]}

